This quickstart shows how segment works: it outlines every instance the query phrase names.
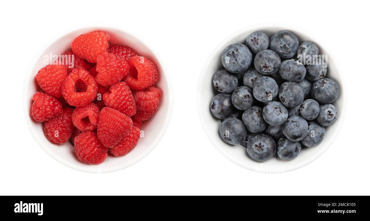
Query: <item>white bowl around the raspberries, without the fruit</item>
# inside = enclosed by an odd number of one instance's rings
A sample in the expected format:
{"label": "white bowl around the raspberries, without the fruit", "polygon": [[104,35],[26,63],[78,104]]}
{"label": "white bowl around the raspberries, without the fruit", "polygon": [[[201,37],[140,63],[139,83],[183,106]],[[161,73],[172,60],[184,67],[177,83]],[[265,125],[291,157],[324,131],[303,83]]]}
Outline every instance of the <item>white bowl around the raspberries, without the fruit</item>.
{"label": "white bowl around the raspberries, without the fruit", "polygon": [[[138,145],[127,155],[114,157],[109,155],[107,159],[101,164],[86,164],[77,160],[73,153],[73,145],[67,142],[63,145],[54,145],[47,140],[43,132],[43,123],[37,123],[30,119],[29,111],[32,104],[32,95],[38,91],[38,85],[35,80],[35,76],[38,70],[45,65],[43,64],[43,56],[53,53],[59,55],[65,50],[71,47],[71,43],[80,34],[88,33],[94,30],[101,30],[110,35],[110,44],[127,45],[134,48],[139,55],[147,57],[149,60],[155,63],[159,72],[159,81],[156,84],[161,88],[163,95],[159,109],[154,117],[144,122],[141,130],[144,131],[144,137],[141,137]],[[155,146],[157,146],[159,140],[164,135],[169,120],[171,119],[172,106],[173,106],[173,91],[171,78],[168,71],[164,67],[164,63],[159,59],[152,47],[148,44],[139,40],[127,31],[121,28],[107,27],[107,26],[92,26],[92,27],[80,27],[72,30],[64,31],[54,39],[50,40],[36,55],[24,82],[23,89],[23,109],[26,117],[28,128],[37,143],[58,162],[65,166],[71,167],[75,170],[80,170],[89,173],[108,173],[117,171],[131,166],[137,163],[139,160],[147,156]]]}

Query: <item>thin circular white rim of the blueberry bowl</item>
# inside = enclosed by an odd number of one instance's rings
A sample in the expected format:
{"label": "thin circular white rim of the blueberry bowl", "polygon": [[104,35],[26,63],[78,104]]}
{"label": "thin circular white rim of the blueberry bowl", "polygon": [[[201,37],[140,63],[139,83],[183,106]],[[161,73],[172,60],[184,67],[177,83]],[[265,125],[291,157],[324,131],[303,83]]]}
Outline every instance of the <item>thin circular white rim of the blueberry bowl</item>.
{"label": "thin circular white rim of the blueberry bowl", "polygon": [[[241,28],[241,29],[235,31],[234,33],[230,34],[224,40],[222,40],[221,43],[219,43],[215,47],[215,49],[211,52],[211,54],[208,56],[205,64],[203,65],[201,74],[199,76],[199,79],[198,79],[198,87],[197,87],[198,117],[199,117],[199,120],[201,122],[203,131],[205,132],[205,134],[208,137],[208,140],[212,143],[212,145],[223,156],[225,156],[231,162],[233,162],[233,163],[237,164],[238,166],[243,167],[245,169],[256,171],[256,172],[263,172],[263,173],[269,173],[269,172],[259,171],[259,170],[256,170],[256,167],[255,166],[245,166],[244,164],[239,163],[237,160],[233,159],[233,157],[230,154],[224,152],[223,151],[223,148],[221,147],[221,145],[218,145],[218,143],[213,139],[213,135],[211,134],[210,130],[208,130],[208,127],[206,125],[206,122],[205,122],[205,120],[203,119],[203,116],[202,116],[202,112],[204,110],[203,110],[203,103],[201,102],[201,94],[202,94],[202,91],[203,91],[203,82],[205,81],[204,79],[205,79],[205,76],[207,75],[206,74],[207,69],[208,69],[209,64],[211,63],[212,59],[215,57],[216,53],[219,51],[219,49],[221,47],[224,47],[224,45],[227,42],[231,41],[233,38],[235,38],[239,34],[246,33],[246,32],[250,32],[251,33],[251,30],[258,30],[258,29],[263,30],[263,28],[266,28],[266,27],[277,27],[277,28],[281,28],[281,30],[295,30],[295,31],[297,31],[297,33],[301,33],[303,35],[306,35],[306,36],[309,36],[309,37],[314,38],[315,39],[315,42],[317,42],[318,44],[324,42],[324,41],[322,41],[322,39],[320,37],[317,37],[316,35],[313,35],[313,34],[309,33],[308,31],[302,30],[302,28],[300,28],[300,27],[293,26],[291,24],[286,24],[286,23],[268,22],[268,23],[253,24],[253,25],[250,25],[250,26]],[[319,44],[319,45],[324,45],[324,44]],[[325,46],[325,51],[327,52],[328,55],[330,54],[330,57],[332,58],[333,61],[337,61],[336,56],[333,55],[333,53],[331,53],[330,48],[328,48],[327,46]],[[336,130],[334,131],[334,136],[330,137],[331,139],[327,143],[327,146],[325,146],[324,148],[321,148],[320,151],[318,151],[313,157],[304,160],[303,163],[301,162],[300,164],[296,164],[296,166],[293,166],[293,169],[286,170],[286,171],[283,171],[283,172],[293,171],[293,170],[299,169],[299,168],[301,168],[303,166],[306,166],[307,164],[313,162],[318,157],[320,157],[327,149],[329,149],[329,147],[333,144],[333,142],[336,139],[336,137],[339,135],[340,129],[343,126],[344,119],[345,119],[345,116],[346,116],[346,110],[347,110],[347,89],[346,89],[346,84],[344,83],[344,82],[346,82],[345,76],[340,74],[340,70],[342,70],[342,68],[340,68],[340,64],[334,62],[334,66],[338,70],[338,75],[340,77],[340,83],[341,83],[341,94],[343,96],[343,106],[342,106],[342,110],[341,110],[341,112],[342,112],[341,115],[342,116],[341,116],[341,118],[339,120],[336,121]],[[209,114],[211,114],[211,113],[209,113]],[[279,173],[279,172],[272,172],[272,173]]]}

